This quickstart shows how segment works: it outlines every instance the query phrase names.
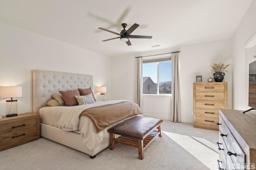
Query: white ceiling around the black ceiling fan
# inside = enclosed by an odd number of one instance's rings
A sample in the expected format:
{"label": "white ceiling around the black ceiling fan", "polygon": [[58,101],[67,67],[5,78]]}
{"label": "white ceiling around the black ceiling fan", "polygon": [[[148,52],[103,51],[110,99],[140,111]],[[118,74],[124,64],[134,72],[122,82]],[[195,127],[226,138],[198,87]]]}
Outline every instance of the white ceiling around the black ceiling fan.
{"label": "white ceiling around the black ceiling fan", "polygon": [[[0,0],[0,21],[108,56],[231,38],[252,0]],[[140,26],[128,46],[98,27]],[[160,47],[152,48],[152,45]]]}

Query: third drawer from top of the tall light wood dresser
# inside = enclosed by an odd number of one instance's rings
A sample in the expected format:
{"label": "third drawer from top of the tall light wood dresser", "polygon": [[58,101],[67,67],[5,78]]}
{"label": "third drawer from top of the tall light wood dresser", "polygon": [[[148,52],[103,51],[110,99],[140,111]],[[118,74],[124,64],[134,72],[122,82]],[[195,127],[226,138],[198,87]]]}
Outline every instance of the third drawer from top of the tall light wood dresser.
{"label": "third drawer from top of the tall light wood dresser", "polygon": [[196,100],[196,108],[224,109],[224,101]]}

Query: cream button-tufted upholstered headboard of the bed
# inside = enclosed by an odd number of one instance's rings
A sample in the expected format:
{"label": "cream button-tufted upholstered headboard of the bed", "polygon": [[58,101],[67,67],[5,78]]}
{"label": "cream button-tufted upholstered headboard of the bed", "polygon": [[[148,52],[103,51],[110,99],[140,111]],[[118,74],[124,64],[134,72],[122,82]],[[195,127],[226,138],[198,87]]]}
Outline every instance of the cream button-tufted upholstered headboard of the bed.
{"label": "cream button-tufted upholstered headboard of the bed", "polygon": [[92,75],[33,70],[33,112],[38,113],[38,110],[52,99],[52,94],[58,94],[59,90],[89,87],[93,90]]}

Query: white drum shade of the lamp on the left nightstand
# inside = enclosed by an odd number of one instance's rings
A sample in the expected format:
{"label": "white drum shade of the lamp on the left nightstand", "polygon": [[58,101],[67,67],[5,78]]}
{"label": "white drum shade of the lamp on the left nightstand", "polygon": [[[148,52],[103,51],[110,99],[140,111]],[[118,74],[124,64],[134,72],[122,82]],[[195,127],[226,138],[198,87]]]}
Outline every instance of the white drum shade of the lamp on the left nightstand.
{"label": "white drum shade of the lamp on the left nightstand", "polygon": [[1,86],[0,98],[22,97],[22,86]]}

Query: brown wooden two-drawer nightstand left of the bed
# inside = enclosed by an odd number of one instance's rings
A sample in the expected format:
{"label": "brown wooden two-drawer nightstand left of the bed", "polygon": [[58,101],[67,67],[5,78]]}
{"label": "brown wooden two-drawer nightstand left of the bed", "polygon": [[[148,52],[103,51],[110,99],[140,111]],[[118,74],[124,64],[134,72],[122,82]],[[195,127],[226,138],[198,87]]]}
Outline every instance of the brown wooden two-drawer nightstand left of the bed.
{"label": "brown wooden two-drawer nightstand left of the bed", "polygon": [[0,119],[0,151],[35,141],[40,137],[37,113],[22,113]]}

